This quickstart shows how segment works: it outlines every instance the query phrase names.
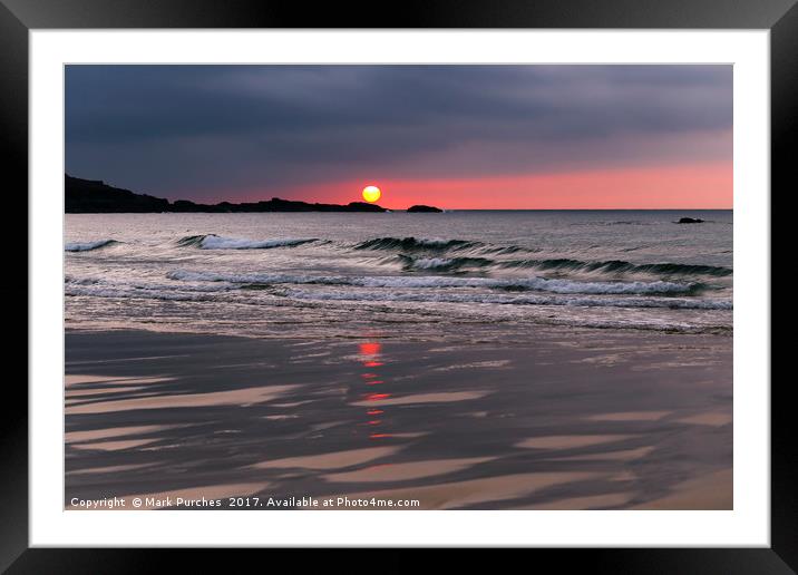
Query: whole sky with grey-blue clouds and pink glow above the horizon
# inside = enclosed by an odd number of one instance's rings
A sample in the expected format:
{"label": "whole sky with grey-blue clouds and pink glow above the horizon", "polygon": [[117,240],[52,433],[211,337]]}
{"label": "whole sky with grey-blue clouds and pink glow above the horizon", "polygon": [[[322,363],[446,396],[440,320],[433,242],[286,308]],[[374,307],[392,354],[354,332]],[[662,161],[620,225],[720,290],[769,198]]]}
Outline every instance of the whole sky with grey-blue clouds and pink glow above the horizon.
{"label": "whole sky with grey-blue clouds and pink glow above the horizon", "polygon": [[69,175],[201,203],[731,208],[731,66],[67,66]]}

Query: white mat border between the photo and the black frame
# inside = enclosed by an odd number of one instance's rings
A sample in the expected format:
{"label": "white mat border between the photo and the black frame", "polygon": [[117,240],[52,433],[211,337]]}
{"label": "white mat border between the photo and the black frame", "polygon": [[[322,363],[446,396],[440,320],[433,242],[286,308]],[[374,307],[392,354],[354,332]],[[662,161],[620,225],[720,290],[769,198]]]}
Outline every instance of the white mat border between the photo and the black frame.
{"label": "white mat border between the photo and the black frame", "polygon": [[[30,48],[31,546],[769,545],[768,31],[35,30]],[[64,511],[64,65],[80,62],[733,64],[734,510]]]}

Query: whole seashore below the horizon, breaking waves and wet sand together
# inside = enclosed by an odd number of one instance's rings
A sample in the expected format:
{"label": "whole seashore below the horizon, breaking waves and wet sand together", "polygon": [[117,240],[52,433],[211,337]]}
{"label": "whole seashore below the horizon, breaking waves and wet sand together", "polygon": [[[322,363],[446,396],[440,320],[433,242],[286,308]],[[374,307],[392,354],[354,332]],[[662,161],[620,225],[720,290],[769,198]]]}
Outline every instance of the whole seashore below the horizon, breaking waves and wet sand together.
{"label": "whole seashore below the horizon, breaking waves and wet sand together", "polygon": [[65,506],[729,509],[732,230],[69,214]]}

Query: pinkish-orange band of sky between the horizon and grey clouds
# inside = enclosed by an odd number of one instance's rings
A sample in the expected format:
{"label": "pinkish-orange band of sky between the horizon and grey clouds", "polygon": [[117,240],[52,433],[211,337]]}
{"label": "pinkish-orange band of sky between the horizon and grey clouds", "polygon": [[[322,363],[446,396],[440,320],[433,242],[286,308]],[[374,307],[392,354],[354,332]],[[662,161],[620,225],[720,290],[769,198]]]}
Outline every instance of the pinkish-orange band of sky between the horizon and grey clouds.
{"label": "pinkish-orange band of sky between the horizon and grey clouds", "polygon": [[[446,209],[730,209],[731,162],[677,166],[592,169],[478,178],[396,179],[392,209],[413,204]],[[264,194],[241,191],[235,201],[279,196],[347,204],[352,182],[284,188]],[[225,194],[230,196],[230,192]]]}

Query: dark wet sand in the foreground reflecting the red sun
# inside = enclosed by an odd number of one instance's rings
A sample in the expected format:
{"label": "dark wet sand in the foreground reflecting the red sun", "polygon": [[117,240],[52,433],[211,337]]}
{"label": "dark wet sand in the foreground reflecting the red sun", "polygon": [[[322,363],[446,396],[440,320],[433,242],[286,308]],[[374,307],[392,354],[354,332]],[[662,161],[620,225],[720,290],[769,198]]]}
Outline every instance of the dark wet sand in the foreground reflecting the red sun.
{"label": "dark wet sand in the foreground reflecting the red sun", "polygon": [[65,508],[731,509],[731,349],[67,331]]}

